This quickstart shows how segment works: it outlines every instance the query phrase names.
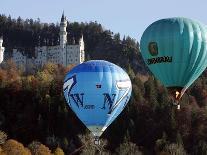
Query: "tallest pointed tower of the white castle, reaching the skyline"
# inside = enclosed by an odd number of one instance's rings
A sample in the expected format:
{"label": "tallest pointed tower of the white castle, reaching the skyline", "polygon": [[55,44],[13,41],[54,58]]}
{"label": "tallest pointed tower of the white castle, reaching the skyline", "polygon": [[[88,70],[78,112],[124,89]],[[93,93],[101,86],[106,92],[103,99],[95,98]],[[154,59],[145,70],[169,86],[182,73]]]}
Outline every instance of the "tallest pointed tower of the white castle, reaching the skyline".
{"label": "tallest pointed tower of the white castle, reaching the skyline", "polygon": [[67,20],[66,17],[64,16],[64,12],[61,17],[61,22],[60,22],[60,47],[64,48],[67,43]]}

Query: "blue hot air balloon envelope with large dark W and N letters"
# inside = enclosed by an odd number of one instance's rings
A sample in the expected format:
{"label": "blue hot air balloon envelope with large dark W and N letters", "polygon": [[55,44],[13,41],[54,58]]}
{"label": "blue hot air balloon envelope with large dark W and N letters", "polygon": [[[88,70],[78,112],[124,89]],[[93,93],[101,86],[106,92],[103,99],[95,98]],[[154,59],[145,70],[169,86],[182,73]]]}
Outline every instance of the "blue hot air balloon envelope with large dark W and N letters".
{"label": "blue hot air balloon envelope with large dark W and N letters", "polygon": [[63,86],[69,107],[98,137],[124,109],[131,89],[127,73],[103,60],[74,67],[67,73]]}

